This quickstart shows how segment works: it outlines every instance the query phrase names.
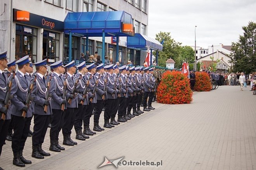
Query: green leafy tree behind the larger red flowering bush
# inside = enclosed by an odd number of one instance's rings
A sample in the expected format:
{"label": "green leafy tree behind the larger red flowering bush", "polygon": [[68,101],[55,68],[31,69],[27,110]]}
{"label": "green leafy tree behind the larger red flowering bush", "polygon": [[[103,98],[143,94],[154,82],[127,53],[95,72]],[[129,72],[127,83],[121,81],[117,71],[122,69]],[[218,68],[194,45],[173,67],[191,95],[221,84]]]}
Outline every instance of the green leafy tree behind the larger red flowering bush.
{"label": "green leafy tree behind the larger red flowering bush", "polygon": [[[158,53],[158,65],[161,67],[166,67],[166,60],[172,58],[176,63],[177,60],[180,63],[180,45],[181,43],[176,42],[171,38],[171,33],[161,32],[156,34],[156,39],[161,42],[164,39],[163,51]],[[154,55],[156,52],[154,52]],[[175,67],[176,67],[175,63]]]}

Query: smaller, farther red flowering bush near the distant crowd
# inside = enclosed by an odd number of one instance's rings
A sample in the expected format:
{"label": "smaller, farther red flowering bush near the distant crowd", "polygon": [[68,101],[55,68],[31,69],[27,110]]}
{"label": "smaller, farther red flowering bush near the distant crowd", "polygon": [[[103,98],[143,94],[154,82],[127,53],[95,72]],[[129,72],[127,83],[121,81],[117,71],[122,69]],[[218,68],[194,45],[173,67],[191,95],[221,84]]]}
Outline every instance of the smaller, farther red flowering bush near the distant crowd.
{"label": "smaller, farther red flowering bush near the distant crowd", "polygon": [[210,91],[211,82],[206,72],[195,72],[195,91]]}

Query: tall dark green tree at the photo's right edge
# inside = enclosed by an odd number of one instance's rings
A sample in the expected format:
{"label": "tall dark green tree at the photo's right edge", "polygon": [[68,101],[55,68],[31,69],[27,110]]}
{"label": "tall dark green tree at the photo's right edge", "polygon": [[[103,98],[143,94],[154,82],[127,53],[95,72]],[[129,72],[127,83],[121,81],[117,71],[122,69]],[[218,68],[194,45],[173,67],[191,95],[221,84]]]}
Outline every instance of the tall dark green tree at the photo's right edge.
{"label": "tall dark green tree at the photo's right edge", "polygon": [[256,71],[256,23],[250,21],[243,26],[244,35],[239,35],[238,42],[232,42],[233,70],[249,74]]}

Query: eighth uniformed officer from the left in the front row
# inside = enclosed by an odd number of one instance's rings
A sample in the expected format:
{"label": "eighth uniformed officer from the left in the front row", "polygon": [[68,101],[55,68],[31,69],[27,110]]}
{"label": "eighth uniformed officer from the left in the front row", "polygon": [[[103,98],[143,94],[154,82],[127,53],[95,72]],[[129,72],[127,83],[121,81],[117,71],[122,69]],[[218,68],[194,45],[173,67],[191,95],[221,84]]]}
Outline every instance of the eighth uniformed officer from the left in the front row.
{"label": "eighth uniformed officer from the left in the front row", "polygon": [[104,64],[100,64],[96,67],[96,73],[94,75],[95,81],[98,80],[98,86],[97,86],[97,102],[95,103],[95,113],[93,117],[93,131],[104,131],[105,129],[100,127],[99,125],[99,118],[100,118],[100,113],[102,112],[102,107],[103,107],[103,99],[102,96],[104,95],[106,97],[106,91],[104,91],[104,78],[103,78],[103,73],[104,73]]}

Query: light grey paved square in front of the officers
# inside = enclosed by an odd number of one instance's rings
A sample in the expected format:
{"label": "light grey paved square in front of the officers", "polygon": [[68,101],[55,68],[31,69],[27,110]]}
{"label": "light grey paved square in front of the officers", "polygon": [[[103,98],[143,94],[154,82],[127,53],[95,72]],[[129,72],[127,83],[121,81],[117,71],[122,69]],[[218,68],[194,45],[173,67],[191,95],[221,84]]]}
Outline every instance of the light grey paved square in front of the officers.
{"label": "light grey paved square in front of the officers", "polygon": [[[31,158],[31,137],[24,157],[27,169],[94,170],[105,160],[162,161],[156,166],[124,166],[118,169],[253,170],[256,169],[256,96],[249,86],[220,86],[210,92],[194,92],[193,102],[164,105],[112,129],[98,132],[66,151],[51,153],[43,160]],[[93,118],[93,116],[92,116]],[[103,113],[100,118],[103,126]],[[93,125],[91,124],[91,127]],[[62,144],[62,135],[60,135]],[[72,132],[73,139],[75,132]],[[10,142],[6,141],[0,160],[4,169],[25,169],[12,165]],[[43,149],[50,145],[49,129]],[[124,161],[124,162],[125,162]],[[113,165],[99,169],[114,170]]]}

